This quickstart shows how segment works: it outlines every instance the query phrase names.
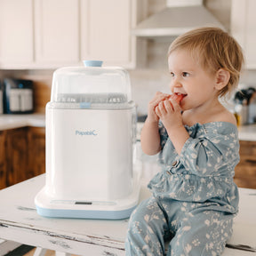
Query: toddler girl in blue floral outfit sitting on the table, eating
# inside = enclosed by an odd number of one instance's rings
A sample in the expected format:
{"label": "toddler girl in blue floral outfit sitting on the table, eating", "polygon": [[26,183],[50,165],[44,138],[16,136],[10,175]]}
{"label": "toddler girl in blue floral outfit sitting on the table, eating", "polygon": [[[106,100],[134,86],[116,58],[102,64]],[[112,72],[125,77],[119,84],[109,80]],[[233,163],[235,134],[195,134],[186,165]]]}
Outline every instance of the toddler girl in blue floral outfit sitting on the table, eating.
{"label": "toddler girl in blue floral outfit sitting on the table, eating", "polygon": [[[243,53],[220,28],[197,28],[168,52],[172,96],[148,104],[141,147],[159,153],[153,196],[132,213],[127,255],[220,255],[232,234],[239,162],[236,118],[219,101],[238,84]],[[170,242],[171,241],[171,242]]]}

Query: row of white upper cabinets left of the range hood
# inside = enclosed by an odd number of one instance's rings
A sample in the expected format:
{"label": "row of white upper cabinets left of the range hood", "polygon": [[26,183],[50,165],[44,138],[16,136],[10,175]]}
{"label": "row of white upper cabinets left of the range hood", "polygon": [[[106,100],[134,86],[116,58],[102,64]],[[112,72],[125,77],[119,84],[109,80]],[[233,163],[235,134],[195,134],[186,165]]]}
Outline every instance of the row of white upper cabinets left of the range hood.
{"label": "row of white upper cabinets left of the range hood", "polygon": [[140,40],[131,30],[144,6],[137,1],[1,0],[0,68],[59,68],[82,60],[135,68]]}

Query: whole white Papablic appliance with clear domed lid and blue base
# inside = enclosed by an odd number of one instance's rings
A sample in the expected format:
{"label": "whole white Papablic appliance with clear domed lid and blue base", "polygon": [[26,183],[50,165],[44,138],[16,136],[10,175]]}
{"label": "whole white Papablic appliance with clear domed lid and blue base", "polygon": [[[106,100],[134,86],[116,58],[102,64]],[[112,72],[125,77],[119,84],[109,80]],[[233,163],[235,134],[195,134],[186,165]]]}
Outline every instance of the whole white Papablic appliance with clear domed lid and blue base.
{"label": "whole white Papablic appliance with clear domed lid and blue base", "polygon": [[[35,198],[46,217],[128,218],[139,202],[133,172],[136,108],[123,68],[60,68],[46,105],[46,182]],[[98,66],[98,67],[97,67]]]}

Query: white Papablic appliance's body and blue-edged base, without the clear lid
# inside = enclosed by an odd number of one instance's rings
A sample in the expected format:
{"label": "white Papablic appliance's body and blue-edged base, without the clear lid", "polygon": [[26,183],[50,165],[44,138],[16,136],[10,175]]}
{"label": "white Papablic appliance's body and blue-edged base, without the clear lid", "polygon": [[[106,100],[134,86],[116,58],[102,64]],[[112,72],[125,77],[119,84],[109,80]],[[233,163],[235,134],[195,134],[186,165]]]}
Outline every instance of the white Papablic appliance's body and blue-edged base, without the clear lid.
{"label": "white Papablic appliance's body and blue-edged base, without the clear lid", "polygon": [[46,217],[128,218],[140,196],[140,173],[132,171],[134,107],[52,105],[46,106],[46,183],[36,195],[37,212]]}

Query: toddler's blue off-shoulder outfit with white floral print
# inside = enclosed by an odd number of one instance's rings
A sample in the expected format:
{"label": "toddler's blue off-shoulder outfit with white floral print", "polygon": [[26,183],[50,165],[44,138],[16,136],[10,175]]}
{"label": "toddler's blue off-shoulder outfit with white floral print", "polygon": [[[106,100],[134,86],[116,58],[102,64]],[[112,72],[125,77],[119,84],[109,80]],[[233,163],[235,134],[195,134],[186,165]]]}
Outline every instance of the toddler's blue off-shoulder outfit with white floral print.
{"label": "toddler's blue off-shoulder outfit with white floral print", "polygon": [[236,125],[185,126],[189,139],[180,156],[160,122],[162,172],[149,182],[153,196],[132,213],[127,255],[220,255],[238,211],[233,181],[239,162]]}

